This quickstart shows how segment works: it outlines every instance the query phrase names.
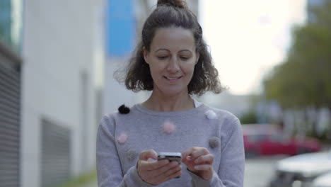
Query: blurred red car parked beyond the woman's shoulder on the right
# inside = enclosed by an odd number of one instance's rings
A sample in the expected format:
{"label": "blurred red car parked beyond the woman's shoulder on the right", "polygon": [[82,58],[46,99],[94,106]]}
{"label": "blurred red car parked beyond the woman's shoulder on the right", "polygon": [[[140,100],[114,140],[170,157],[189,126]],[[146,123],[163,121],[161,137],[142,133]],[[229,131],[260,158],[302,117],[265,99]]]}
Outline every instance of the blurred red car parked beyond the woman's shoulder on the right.
{"label": "blurred red car parked beyond the woman's shoulder on the right", "polygon": [[286,137],[277,125],[243,125],[243,139],[246,157],[320,151],[318,140]]}

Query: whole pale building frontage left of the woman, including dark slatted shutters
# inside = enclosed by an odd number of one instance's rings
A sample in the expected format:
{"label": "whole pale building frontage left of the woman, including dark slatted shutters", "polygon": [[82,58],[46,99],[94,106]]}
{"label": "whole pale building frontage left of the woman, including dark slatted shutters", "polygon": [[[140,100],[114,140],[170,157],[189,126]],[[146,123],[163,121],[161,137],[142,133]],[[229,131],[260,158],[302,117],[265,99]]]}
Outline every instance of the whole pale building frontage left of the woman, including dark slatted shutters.
{"label": "whole pale building frontage left of the woman, including dark slatted shutters", "polygon": [[1,0],[0,186],[57,186],[95,169],[103,2]]}

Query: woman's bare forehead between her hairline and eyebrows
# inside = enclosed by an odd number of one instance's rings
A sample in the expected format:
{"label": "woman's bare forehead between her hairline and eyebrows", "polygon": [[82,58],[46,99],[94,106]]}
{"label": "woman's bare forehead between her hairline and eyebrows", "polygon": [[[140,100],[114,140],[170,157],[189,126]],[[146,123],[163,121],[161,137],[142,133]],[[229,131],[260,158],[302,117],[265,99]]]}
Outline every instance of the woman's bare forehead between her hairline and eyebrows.
{"label": "woman's bare forehead between her hairline and eyebrows", "polygon": [[151,42],[151,51],[164,48],[167,50],[195,50],[193,33],[189,29],[171,27],[158,28]]}

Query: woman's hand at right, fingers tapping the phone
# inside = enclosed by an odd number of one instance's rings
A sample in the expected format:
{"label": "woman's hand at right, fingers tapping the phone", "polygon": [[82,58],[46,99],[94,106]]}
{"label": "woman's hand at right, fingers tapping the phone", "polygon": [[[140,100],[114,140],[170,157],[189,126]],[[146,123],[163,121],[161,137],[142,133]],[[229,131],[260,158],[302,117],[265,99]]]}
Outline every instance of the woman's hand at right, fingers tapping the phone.
{"label": "woman's hand at right, fingers tapping the phone", "polygon": [[214,155],[204,147],[190,147],[182,152],[182,162],[187,169],[204,180],[213,176]]}

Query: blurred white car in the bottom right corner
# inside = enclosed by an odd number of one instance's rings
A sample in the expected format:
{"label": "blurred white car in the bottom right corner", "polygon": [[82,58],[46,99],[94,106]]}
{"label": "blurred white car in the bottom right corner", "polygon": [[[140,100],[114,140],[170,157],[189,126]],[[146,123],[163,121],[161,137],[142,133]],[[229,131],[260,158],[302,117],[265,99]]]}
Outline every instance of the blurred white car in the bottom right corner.
{"label": "blurred white car in the bottom right corner", "polygon": [[331,149],[328,152],[300,154],[281,159],[277,162],[276,169],[270,187],[310,187],[312,185],[322,187],[318,185],[320,180],[323,181],[325,178],[322,176],[322,179],[318,179],[317,177],[331,171]]}

